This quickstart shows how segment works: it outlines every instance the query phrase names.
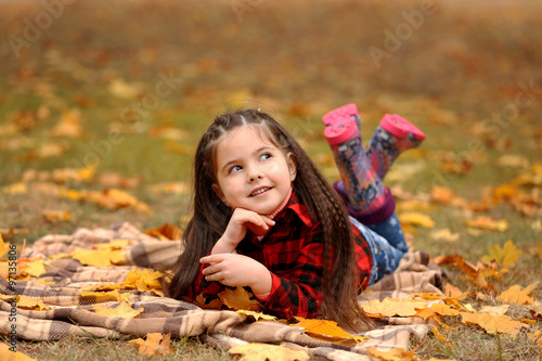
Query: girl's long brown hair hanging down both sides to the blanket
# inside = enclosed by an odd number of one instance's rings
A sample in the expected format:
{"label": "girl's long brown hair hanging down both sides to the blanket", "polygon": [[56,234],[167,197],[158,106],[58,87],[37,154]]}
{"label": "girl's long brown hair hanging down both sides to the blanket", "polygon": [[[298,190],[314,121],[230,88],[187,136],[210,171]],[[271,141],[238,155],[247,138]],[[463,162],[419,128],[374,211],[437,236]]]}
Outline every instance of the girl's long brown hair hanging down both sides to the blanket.
{"label": "girl's long brown hair hanging down both sides to the blanket", "polygon": [[367,330],[372,322],[357,302],[354,246],[343,201],[287,130],[269,114],[256,109],[218,116],[199,141],[194,160],[194,215],[184,230],[183,252],[175,263],[172,279],[165,288],[168,296],[181,298],[185,295],[197,276],[199,258],[212,249],[225,231],[229,215],[220,198],[211,191],[216,183],[215,151],[223,137],[246,126],[255,127],[284,154],[294,154],[297,176],[293,184],[296,195],[313,215],[313,220],[321,220],[325,247],[321,315],[351,330]]}

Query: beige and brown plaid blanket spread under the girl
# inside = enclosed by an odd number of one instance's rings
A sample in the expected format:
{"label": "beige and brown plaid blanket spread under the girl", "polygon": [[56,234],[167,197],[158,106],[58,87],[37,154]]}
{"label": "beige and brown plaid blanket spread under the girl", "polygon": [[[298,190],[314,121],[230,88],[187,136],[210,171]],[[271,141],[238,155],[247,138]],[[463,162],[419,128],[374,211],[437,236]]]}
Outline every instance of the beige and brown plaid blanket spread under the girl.
{"label": "beige and brown plaid blanket spread under the girl", "polygon": [[[80,260],[66,258],[80,249],[100,249],[124,240],[119,246],[124,255],[115,266],[83,266]],[[68,335],[81,337],[126,336],[143,337],[147,333],[171,334],[171,338],[199,336],[207,343],[229,348],[246,343],[270,343],[304,347],[310,356],[330,360],[366,360],[366,348],[379,350],[406,348],[409,337],[423,339],[429,326],[421,318],[390,318],[387,325],[360,334],[370,339],[344,345],[313,338],[302,328],[278,321],[257,321],[230,310],[202,309],[183,300],[162,297],[153,292],[120,289],[119,294],[133,310],[134,318],[107,317],[94,313],[94,306],[115,307],[118,297],[86,294],[91,285],[121,283],[134,269],[153,265],[171,266],[181,252],[179,241],[159,240],[125,222],[112,229],[78,229],[72,235],[47,235],[25,249],[23,257],[43,260],[44,273],[27,281],[10,284],[0,278],[0,295],[39,298],[48,309],[16,309],[16,335],[27,340],[59,340]],[[64,254],[64,258],[57,258]],[[34,257],[34,258],[33,258]],[[85,262],[83,262],[85,263]],[[408,254],[400,268],[370,287],[359,297],[360,302],[386,297],[401,298],[411,293],[441,293],[442,272],[429,269],[425,253]],[[31,273],[31,272],[30,272]],[[10,333],[13,327],[12,302],[0,300],[0,330]]]}

